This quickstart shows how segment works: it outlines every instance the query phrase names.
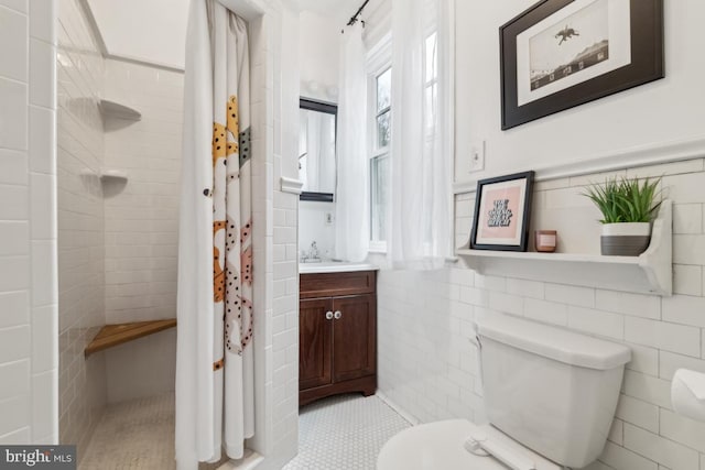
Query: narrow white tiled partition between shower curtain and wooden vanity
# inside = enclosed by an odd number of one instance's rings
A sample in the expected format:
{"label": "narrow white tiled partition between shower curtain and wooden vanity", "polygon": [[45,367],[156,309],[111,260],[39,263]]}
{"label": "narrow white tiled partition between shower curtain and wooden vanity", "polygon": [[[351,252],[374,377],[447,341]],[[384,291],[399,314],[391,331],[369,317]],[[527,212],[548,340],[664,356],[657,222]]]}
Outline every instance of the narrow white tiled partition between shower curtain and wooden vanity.
{"label": "narrow white tiled partition between shower curtain and wooden vanity", "polygon": [[[252,132],[252,147],[267,155],[260,160],[264,164],[253,168],[258,182],[253,187],[261,186],[256,200],[262,203],[256,207],[254,239],[264,240],[256,255],[259,252],[263,258],[260,265],[267,271],[262,296],[256,295],[254,306],[258,297],[263,298],[259,309],[264,313],[260,328],[264,337],[260,338],[267,360],[262,395],[265,406],[271,407],[264,414],[269,415],[272,449],[264,467],[271,469],[282,468],[299,447],[299,196],[281,192],[279,183],[282,176],[297,174],[292,167],[297,167],[299,161],[299,45],[286,39],[297,36],[299,15],[282,6],[270,1],[268,14],[257,24],[250,23],[251,44],[268,44],[253,54],[251,63],[252,76],[264,77],[252,80],[261,86],[259,97],[252,98],[252,120],[263,130],[259,140]],[[279,253],[276,259],[274,253]]]}

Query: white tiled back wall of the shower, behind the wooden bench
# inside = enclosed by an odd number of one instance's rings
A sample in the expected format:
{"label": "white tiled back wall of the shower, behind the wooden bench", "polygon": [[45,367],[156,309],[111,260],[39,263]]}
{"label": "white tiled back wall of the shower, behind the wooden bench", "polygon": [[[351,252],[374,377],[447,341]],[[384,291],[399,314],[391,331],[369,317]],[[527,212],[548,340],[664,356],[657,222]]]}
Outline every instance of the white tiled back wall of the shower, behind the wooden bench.
{"label": "white tiled back wall of the shower, behind the wooden bench", "polygon": [[[106,59],[104,97],[133,107],[138,122],[105,120],[106,323],[176,317],[184,74]],[[176,335],[107,350],[108,402],[174,390]]]}

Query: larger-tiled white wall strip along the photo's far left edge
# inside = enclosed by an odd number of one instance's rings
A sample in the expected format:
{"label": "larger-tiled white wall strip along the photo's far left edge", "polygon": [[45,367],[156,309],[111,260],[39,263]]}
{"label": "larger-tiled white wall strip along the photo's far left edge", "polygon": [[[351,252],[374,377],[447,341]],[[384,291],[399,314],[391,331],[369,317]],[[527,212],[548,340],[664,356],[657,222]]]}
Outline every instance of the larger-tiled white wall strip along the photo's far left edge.
{"label": "larger-tiled white wall strip along the photo's far left edge", "polygon": [[58,442],[56,3],[0,0],[0,444]]}

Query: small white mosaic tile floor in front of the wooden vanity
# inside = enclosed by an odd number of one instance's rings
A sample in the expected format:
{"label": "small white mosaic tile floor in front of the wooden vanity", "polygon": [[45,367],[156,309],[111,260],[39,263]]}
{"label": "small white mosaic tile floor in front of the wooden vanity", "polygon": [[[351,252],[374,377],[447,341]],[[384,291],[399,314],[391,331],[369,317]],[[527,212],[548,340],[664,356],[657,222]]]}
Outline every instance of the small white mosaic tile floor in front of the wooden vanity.
{"label": "small white mosaic tile floor in front of the wooden vanity", "polygon": [[384,442],[410,426],[373,395],[315,402],[301,408],[299,456],[283,470],[373,470]]}

